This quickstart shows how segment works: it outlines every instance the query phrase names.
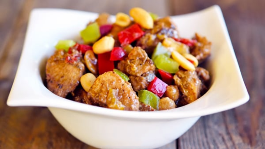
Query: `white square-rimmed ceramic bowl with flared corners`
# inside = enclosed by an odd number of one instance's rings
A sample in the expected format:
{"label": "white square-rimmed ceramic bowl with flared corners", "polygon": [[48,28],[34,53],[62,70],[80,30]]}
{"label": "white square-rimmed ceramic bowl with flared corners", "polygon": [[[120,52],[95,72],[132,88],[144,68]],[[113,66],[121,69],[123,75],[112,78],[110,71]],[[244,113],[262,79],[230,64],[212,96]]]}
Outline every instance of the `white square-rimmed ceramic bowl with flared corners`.
{"label": "white square-rimmed ceramic bowl with flared corners", "polygon": [[249,95],[219,6],[172,16],[182,37],[195,32],[212,43],[207,68],[209,91],[186,106],[156,112],[120,111],[61,98],[43,85],[45,64],[58,40],[79,39],[79,31],[98,14],[63,9],[34,9],[8,106],[48,107],[73,136],[98,148],[134,149],[163,146],[185,133],[201,116],[244,104]]}

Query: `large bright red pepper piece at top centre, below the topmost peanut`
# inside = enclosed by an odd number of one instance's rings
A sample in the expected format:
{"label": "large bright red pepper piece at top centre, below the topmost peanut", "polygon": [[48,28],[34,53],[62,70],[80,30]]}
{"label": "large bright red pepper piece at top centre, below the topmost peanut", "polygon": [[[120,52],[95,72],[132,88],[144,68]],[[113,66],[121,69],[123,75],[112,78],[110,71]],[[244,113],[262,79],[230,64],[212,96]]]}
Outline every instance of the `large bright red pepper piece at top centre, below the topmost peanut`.
{"label": "large bright red pepper piece at top centre, below the topmost peanut", "polygon": [[118,33],[118,38],[122,46],[126,46],[133,41],[139,39],[144,35],[144,31],[138,24],[131,25],[130,27]]}

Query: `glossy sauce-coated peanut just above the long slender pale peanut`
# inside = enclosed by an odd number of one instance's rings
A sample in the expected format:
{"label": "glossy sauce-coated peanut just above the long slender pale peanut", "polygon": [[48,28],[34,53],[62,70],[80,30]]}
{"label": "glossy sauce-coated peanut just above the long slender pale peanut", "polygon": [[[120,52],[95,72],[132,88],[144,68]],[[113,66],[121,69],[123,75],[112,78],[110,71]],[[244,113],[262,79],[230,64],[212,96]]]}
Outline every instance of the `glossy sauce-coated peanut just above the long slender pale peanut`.
{"label": "glossy sauce-coated peanut just above the long slender pale peanut", "polygon": [[165,38],[162,45],[170,50],[178,51],[180,54],[189,53],[189,47],[187,45],[175,41],[173,38]]}

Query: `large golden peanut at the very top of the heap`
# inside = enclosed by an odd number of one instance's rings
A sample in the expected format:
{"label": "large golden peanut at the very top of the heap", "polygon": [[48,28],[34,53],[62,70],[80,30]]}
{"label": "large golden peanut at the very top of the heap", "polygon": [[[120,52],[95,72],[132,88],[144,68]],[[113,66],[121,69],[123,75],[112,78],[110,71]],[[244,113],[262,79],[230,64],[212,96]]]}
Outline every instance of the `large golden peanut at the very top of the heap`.
{"label": "large golden peanut at the very top of the heap", "polygon": [[154,21],[151,15],[144,9],[139,7],[131,8],[129,14],[141,27],[145,29],[152,29],[154,27]]}

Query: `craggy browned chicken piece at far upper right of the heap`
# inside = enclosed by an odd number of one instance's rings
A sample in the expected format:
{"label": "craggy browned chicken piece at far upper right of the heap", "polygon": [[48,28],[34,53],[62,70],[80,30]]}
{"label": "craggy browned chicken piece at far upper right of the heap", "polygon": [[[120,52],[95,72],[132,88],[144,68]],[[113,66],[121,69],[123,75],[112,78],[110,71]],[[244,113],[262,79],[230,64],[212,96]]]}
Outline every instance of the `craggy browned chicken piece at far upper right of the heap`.
{"label": "craggy browned chicken piece at far upper right of the heap", "polygon": [[199,34],[195,34],[195,45],[190,49],[190,53],[198,59],[198,62],[203,62],[211,54],[212,43],[207,40],[206,37],[202,37]]}

